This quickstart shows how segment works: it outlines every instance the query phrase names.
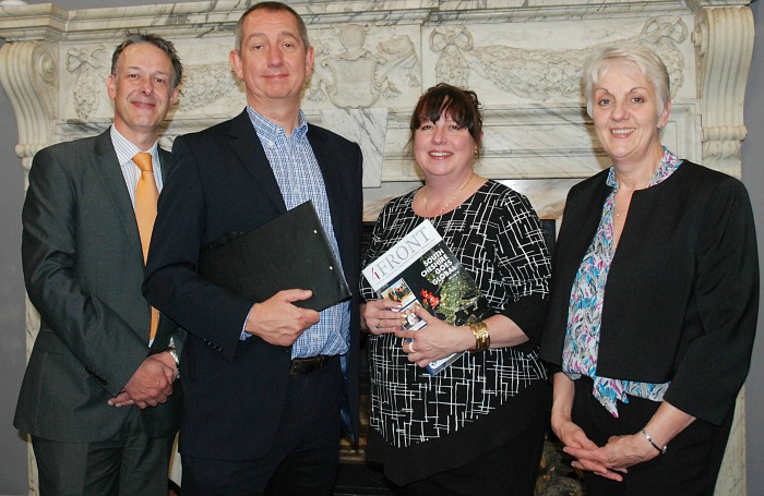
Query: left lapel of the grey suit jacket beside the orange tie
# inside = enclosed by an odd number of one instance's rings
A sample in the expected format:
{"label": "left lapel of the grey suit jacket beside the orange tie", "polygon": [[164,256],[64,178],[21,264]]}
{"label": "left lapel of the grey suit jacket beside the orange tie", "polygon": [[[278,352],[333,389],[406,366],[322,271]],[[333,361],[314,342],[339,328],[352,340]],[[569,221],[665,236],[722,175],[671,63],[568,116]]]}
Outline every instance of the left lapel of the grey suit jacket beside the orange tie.
{"label": "left lapel of the grey suit jacket beside the orange tie", "polygon": [[124,183],[122,169],[119,167],[119,159],[111,144],[108,129],[96,137],[91,166],[100,179],[102,184],[104,184],[104,191],[111,201],[111,206],[117,214],[117,219],[124,235],[128,238],[133,256],[143,265],[143,251],[141,249],[138,223],[135,222],[135,211],[130,201],[130,193]]}

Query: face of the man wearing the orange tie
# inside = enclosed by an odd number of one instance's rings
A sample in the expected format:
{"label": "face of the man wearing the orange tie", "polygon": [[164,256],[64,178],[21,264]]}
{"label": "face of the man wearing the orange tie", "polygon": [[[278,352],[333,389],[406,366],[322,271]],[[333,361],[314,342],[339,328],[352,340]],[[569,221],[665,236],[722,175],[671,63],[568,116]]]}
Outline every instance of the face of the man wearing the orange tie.
{"label": "face of the man wearing the orange tie", "polygon": [[107,80],[115,104],[115,126],[124,137],[140,143],[156,134],[170,106],[178,98],[172,88],[172,62],[151,44],[129,45],[117,62],[117,74]]}

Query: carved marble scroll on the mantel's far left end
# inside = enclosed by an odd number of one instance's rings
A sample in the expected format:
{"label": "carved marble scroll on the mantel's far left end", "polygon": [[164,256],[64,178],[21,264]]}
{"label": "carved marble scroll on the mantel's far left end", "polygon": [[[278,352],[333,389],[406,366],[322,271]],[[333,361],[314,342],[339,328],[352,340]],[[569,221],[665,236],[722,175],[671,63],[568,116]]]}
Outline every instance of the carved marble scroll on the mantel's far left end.
{"label": "carved marble scroll on the mantel's far left end", "polygon": [[3,45],[0,82],[16,114],[16,155],[28,171],[32,157],[52,138],[50,122],[56,117],[58,97],[52,46],[39,41]]}

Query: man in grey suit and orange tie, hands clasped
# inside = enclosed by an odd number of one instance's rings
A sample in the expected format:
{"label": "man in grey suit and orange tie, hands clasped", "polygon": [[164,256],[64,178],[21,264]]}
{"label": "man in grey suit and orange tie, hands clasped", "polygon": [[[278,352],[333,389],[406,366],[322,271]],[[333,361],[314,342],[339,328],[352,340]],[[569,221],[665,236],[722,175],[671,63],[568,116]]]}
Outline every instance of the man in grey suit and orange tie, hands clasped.
{"label": "man in grey suit and orange tie, hands clasped", "polygon": [[29,171],[22,259],[40,329],[14,425],[32,436],[43,495],[167,495],[183,331],[141,283],[170,168],[159,124],[181,75],[171,43],[128,34],[107,81],[114,125],[40,150]]}

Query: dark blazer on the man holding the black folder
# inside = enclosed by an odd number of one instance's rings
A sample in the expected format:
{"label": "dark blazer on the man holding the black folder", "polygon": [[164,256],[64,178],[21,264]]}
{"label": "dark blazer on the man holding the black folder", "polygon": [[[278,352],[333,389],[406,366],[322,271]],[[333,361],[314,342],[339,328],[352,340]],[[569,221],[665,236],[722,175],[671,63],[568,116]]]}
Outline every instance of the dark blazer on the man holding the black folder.
{"label": "dark blazer on the man holding the black folder", "polygon": [[[357,144],[314,125],[309,126],[308,140],[326,184],[345,276],[350,288],[357,288],[361,152]],[[286,207],[246,110],[230,121],[178,137],[172,160],[176,168],[159,198],[144,293],[157,309],[188,326],[180,365],[188,400],[180,450],[202,458],[255,459],[274,443],[290,348],[254,337],[241,341],[255,302],[211,283],[196,269],[203,245],[261,226]],[[358,294],[351,307],[345,399],[357,435]]]}

